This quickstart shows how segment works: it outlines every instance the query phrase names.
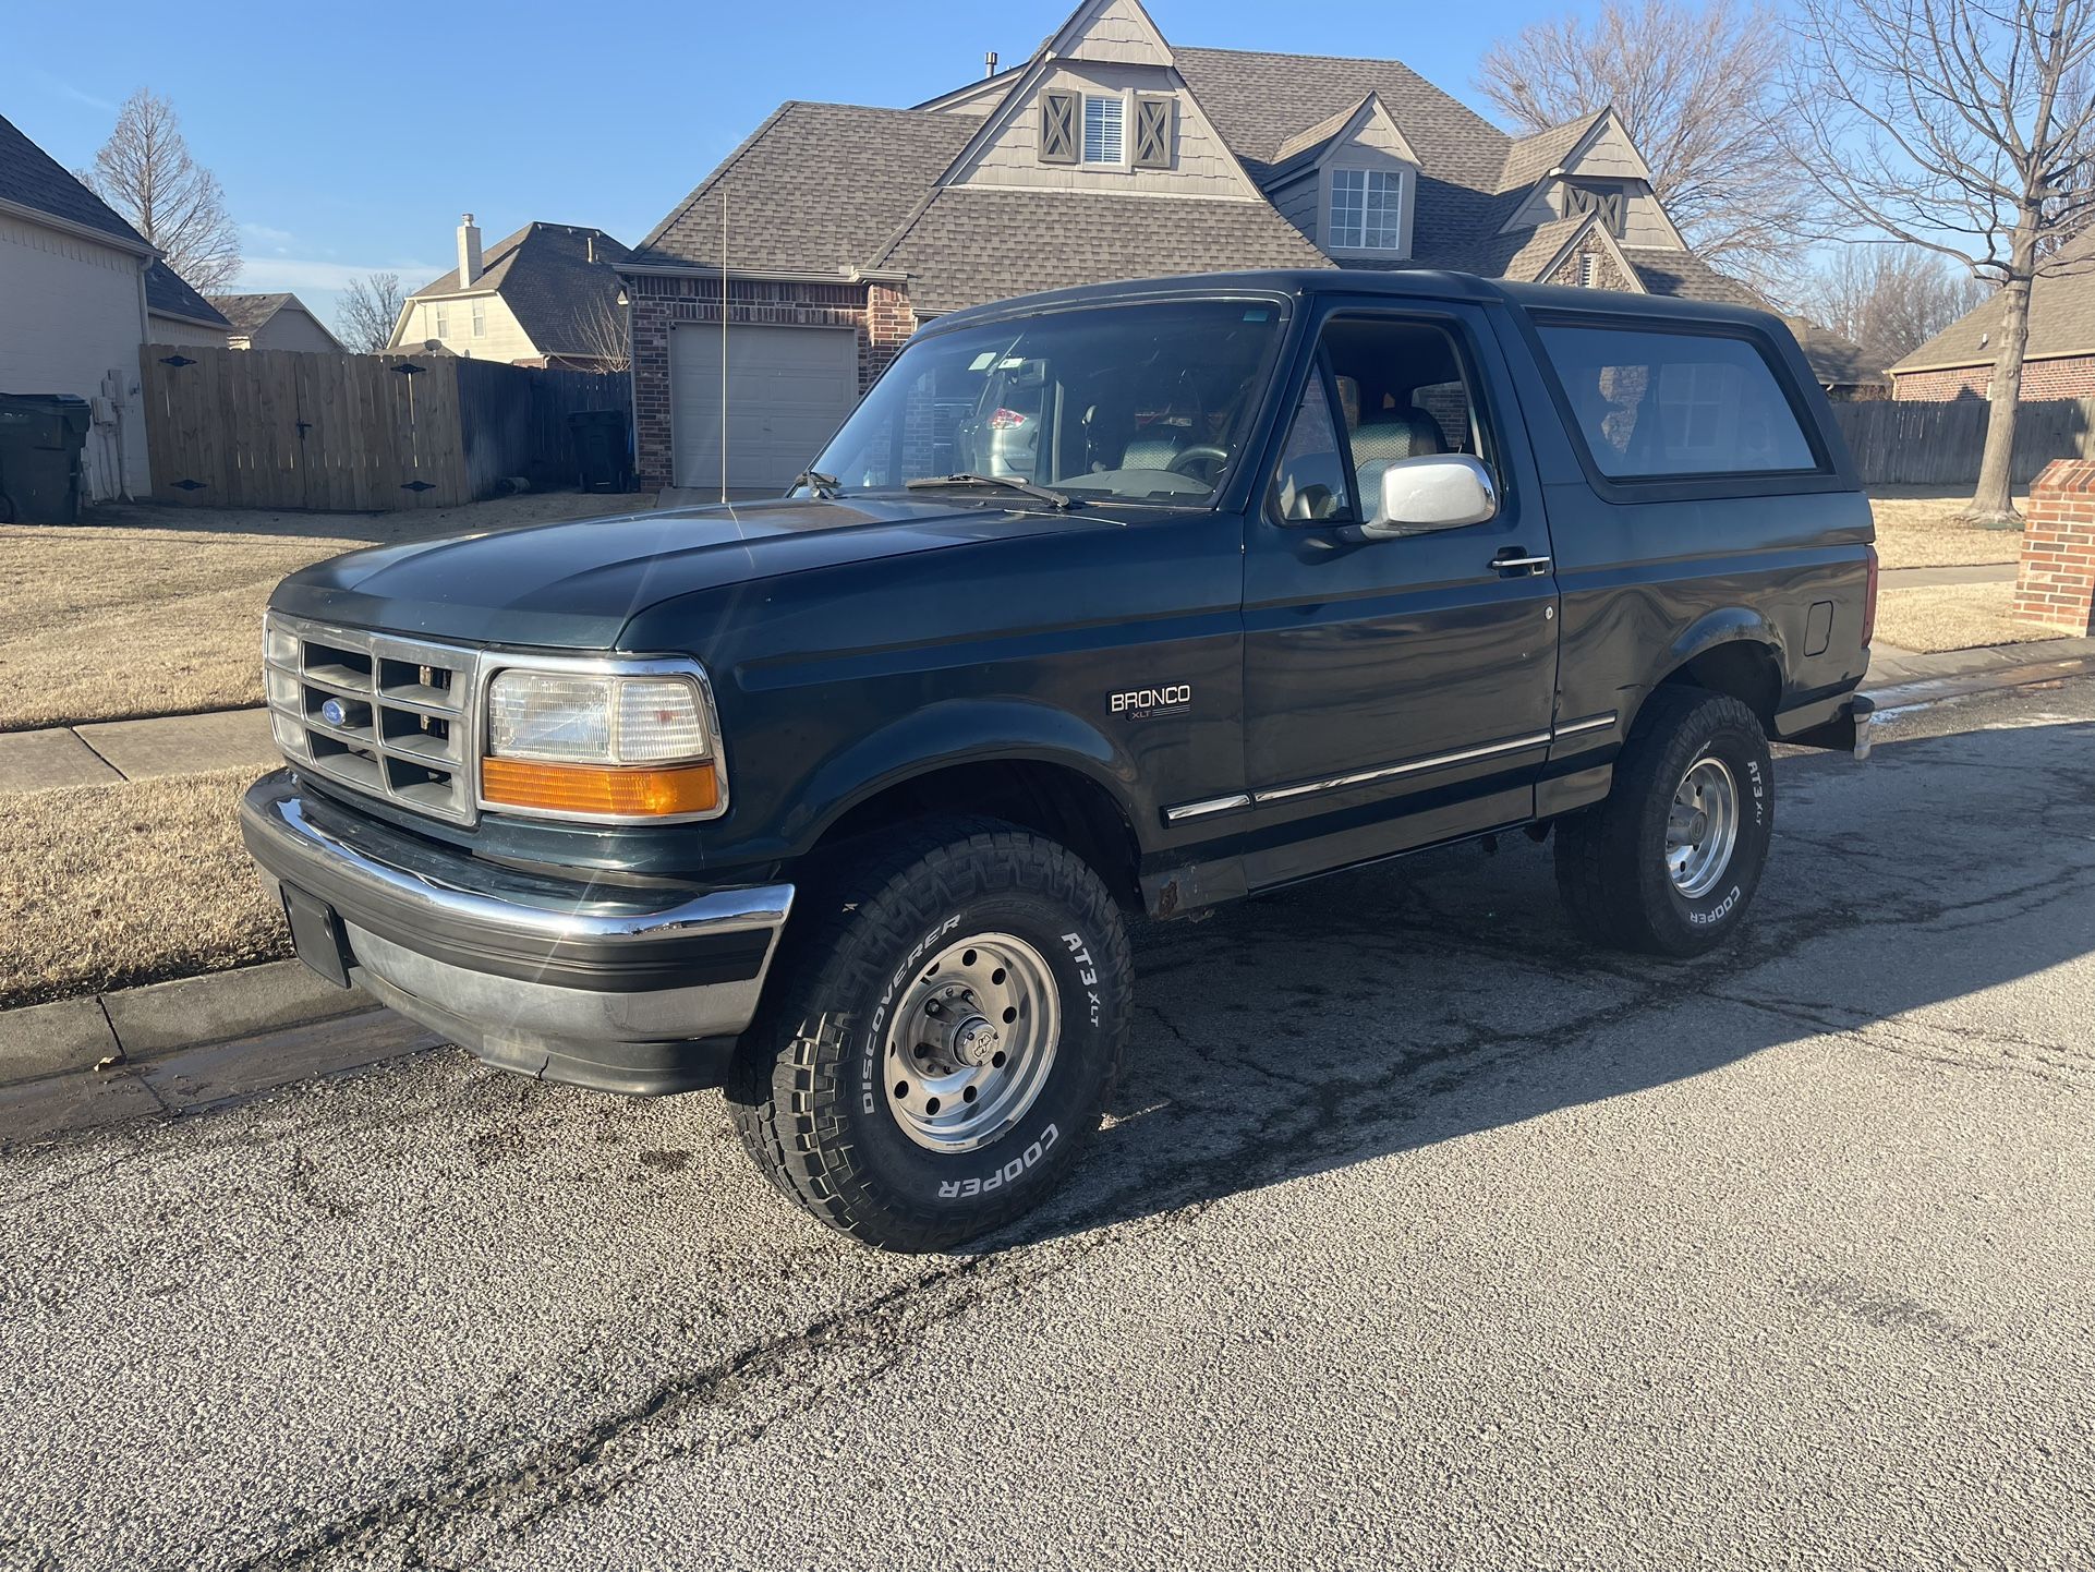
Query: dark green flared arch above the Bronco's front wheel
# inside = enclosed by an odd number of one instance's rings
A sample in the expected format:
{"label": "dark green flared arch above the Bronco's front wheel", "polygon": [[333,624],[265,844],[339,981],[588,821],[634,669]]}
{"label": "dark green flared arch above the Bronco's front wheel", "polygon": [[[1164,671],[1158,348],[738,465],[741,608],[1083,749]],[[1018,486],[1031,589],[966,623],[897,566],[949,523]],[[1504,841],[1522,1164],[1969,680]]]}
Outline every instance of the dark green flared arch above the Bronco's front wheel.
{"label": "dark green flared arch above the Bronco's front wheel", "polygon": [[1096,725],[1052,704],[960,698],[911,711],[823,759],[779,830],[800,855],[884,790],[951,765],[995,761],[1075,769],[1102,786],[1131,824],[1154,817],[1135,805],[1142,782],[1135,761]]}

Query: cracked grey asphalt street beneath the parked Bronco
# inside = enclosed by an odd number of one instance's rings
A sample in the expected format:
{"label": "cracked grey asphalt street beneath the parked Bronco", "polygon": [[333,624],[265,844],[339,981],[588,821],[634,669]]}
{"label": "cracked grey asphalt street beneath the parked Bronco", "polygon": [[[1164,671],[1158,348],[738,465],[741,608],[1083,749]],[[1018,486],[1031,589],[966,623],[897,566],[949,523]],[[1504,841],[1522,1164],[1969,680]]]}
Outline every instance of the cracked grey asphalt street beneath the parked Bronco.
{"label": "cracked grey asphalt street beneath the parked Bronco", "polygon": [[0,1151],[0,1566],[2087,1568],[2095,681],[1883,736],[1703,962],[1525,838],[1146,929],[976,1253],[457,1050]]}

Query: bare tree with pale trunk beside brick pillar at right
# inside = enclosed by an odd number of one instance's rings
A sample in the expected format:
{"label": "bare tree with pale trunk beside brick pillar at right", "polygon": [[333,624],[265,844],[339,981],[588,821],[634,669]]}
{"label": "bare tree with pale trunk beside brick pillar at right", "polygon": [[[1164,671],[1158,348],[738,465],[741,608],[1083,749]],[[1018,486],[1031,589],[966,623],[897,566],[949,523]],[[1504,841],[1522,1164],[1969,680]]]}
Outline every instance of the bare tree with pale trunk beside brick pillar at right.
{"label": "bare tree with pale trunk beside brick pillar at right", "polygon": [[2089,266],[2095,0],[1798,0],[1789,134],[1812,182],[1881,235],[2001,289],[1973,524],[2011,526],[2030,285]]}

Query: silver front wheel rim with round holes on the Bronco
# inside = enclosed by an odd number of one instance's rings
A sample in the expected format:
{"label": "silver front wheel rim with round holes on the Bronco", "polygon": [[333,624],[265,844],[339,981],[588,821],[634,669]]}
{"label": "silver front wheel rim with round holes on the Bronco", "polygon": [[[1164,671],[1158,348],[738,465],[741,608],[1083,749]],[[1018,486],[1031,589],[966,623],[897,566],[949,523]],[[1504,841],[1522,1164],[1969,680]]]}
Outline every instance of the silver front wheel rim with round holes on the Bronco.
{"label": "silver front wheel rim with round holes on the Bronco", "polygon": [[987,1147],[1027,1117],[1060,1040],[1054,973],[1033,945],[1010,933],[951,943],[895,1006],[888,1111],[918,1147]]}

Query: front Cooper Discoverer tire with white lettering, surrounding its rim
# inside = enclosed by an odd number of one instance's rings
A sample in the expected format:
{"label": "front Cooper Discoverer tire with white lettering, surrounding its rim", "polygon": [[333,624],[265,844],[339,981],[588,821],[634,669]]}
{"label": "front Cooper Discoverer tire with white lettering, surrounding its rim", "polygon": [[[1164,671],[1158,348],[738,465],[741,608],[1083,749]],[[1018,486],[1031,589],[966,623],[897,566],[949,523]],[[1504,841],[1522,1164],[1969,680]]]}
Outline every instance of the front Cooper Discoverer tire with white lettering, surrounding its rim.
{"label": "front Cooper Discoverer tire with white lettering, surrounding its rim", "polygon": [[[930,1149],[890,1100],[888,1038],[926,968],[980,935],[1041,962],[1060,1029],[1022,1111],[985,1144]],[[1131,1006],[1127,931],[1081,857],[997,820],[922,820],[842,849],[802,891],[727,1100],[756,1165],[817,1220],[880,1249],[945,1249],[1068,1174],[1119,1075]]]}

